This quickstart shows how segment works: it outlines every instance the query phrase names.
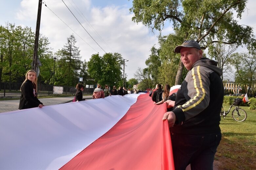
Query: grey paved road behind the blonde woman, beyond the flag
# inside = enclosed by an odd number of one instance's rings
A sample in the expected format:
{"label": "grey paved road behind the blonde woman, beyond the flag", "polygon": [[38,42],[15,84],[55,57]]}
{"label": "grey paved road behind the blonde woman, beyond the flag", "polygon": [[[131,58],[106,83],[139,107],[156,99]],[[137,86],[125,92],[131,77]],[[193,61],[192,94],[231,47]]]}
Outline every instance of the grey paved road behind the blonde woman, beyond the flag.
{"label": "grey paved road behind the blonde woman, beyond the flag", "polygon": [[[90,100],[92,96],[83,96],[84,99]],[[44,105],[54,105],[73,100],[74,97],[57,97],[57,98],[42,98],[39,99]],[[10,112],[14,110],[19,110],[20,100],[0,100],[0,113]]]}

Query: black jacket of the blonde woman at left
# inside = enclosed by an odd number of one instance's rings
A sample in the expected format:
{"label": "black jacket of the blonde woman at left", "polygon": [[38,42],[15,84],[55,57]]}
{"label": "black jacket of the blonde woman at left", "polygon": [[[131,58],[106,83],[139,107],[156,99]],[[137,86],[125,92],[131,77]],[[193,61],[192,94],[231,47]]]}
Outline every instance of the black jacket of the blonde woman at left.
{"label": "black jacket of the blonde woman at left", "polygon": [[[19,109],[28,109],[33,107],[38,107],[39,104],[43,104],[41,101],[34,96],[33,90],[35,85],[30,80],[27,80],[21,86],[21,96]],[[37,95],[37,94],[36,94]]]}

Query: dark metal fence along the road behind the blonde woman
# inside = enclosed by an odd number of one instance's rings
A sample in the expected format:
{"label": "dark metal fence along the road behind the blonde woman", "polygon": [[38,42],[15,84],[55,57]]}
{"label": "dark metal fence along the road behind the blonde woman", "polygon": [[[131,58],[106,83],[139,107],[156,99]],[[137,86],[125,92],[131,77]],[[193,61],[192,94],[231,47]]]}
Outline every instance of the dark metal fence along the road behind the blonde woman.
{"label": "dark metal fence along the road behind the blonde woman", "polygon": [[[0,83],[0,96],[8,97],[8,96],[20,96],[22,83]],[[76,88],[73,86],[61,86],[63,87],[63,94],[72,94],[76,93]],[[92,94],[93,88],[84,88],[83,94]],[[53,87],[52,85],[37,85],[38,96],[47,96],[52,95]]]}

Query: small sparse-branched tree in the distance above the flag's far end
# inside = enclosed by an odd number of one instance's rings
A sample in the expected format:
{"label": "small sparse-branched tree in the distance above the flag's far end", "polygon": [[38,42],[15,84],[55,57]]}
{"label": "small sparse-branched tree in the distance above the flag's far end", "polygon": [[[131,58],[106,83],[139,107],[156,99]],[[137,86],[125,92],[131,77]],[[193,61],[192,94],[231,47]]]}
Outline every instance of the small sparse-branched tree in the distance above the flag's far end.
{"label": "small sparse-branched tree in the distance above the flag's far end", "polygon": [[144,89],[150,88],[153,86],[152,80],[150,79],[148,69],[141,69],[140,67],[138,70],[135,71],[134,77],[138,79],[138,81],[143,85]]}

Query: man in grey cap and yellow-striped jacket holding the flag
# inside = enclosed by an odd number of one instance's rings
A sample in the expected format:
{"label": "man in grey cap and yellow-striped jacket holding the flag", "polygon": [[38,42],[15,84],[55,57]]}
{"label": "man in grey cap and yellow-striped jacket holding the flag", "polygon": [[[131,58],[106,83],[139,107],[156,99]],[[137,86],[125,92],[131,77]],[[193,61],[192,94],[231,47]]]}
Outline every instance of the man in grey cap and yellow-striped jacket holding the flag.
{"label": "man in grey cap and yellow-striped jacket holding the flag", "polygon": [[221,140],[222,70],[216,61],[203,57],[194,40],[184,41],[174,52],[181,54],[188,70],[175,102],[167,100],[173,110],[163,117],[170,127],[175,170],[185,170],[189,164],[191,169],[210,170]]}

